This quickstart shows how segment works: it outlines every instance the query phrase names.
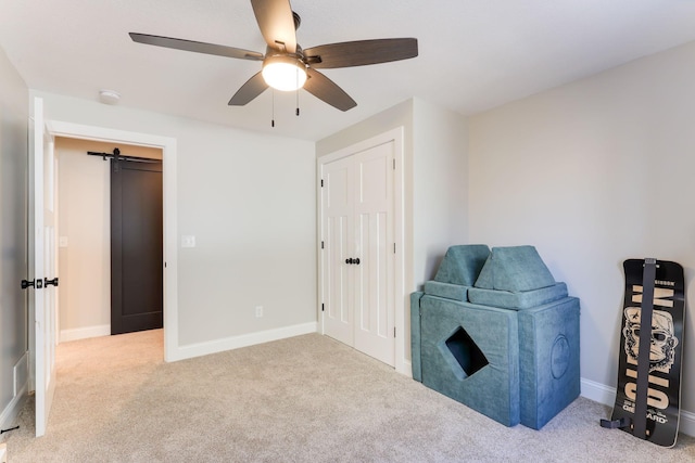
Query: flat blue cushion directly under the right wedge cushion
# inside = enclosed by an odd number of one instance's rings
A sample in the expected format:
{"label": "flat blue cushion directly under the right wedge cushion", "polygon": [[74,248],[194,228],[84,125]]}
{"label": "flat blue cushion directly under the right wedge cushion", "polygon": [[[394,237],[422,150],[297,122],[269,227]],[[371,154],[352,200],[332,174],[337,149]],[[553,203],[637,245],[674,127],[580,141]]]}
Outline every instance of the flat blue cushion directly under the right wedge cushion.
{"label": "flat blue cushion directly under the right wedge cushion", "polygon": [[471,287],[467,293],[468,300],[473,304],[523,310],[567,297],[567,285],[555,283],[552,286],[520,293]]}

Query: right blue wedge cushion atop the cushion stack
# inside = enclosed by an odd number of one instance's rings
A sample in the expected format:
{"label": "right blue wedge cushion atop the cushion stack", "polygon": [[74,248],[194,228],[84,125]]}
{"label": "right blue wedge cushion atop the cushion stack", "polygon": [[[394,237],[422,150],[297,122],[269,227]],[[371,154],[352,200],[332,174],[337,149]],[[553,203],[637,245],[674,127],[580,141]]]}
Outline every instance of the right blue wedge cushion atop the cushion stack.
{"label": "right blue wedge cushion atop the cushion stack", "polygon": [[493,247],[475,286],[522,292],[552,286],[555,279],[533,246]]}

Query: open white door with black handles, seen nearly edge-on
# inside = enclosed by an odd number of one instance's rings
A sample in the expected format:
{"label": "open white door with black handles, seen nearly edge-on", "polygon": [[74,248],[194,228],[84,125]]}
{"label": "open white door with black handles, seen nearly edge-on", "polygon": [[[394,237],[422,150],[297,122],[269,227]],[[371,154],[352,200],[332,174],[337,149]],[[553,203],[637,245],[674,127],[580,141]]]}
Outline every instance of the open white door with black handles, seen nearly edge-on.
{"label": "open white door with black handles, seen nearly edge-on", "polygon": [[[58,266],[55,259],[55,155],[53,139],[43,120],[43,100],[34,99],[34,127],[29,179],[29,275],[35,279],[29,296],[30,360],[36,390],[36,436],[46,434],[55,391],[55,331]],[[33,335],[33,336],[31,336]],[[31,339],[33,338],[33,339]]]}

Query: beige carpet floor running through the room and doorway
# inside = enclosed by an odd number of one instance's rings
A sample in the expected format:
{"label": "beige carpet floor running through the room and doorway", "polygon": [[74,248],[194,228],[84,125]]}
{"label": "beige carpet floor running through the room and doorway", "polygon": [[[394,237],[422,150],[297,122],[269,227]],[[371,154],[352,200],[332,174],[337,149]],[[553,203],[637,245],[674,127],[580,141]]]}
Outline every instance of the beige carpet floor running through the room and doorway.
{"label": "beige carpet floor running through the room and doorway", "polygon": [[175,363],[162,332],[59,346],[55,401],[35,439],[29,400],[10,462],[684,462],[598,426],[579,398],[542,430],[496,422],[318,334]]}

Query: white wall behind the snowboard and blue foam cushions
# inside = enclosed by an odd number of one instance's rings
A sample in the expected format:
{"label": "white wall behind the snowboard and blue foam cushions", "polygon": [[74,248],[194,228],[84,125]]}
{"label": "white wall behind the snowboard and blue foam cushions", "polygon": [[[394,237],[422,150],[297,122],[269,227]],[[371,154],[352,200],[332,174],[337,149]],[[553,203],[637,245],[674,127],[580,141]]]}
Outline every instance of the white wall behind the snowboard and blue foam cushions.
{"label": "white wall behind the snowboard and blue foam cushions", "polygon": [[470,119],[470,240],[535,245],[580,297],[583,389],[615,390],[624,259],[680,262],[695,300],[693,82],[690,43]]}

